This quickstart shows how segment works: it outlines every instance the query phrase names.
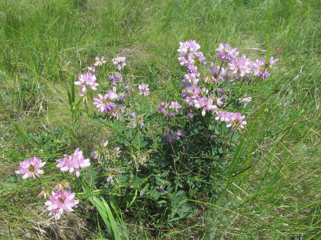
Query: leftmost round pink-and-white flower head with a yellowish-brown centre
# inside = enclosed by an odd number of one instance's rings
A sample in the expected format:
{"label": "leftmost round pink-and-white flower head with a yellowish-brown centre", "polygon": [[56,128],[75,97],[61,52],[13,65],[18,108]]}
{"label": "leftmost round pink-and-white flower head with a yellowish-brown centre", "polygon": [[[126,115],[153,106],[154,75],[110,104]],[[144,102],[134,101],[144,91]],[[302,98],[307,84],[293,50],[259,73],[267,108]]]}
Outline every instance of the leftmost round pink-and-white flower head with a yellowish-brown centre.
{"label": "leftmost round pink-and-white flower head with a yellowish-brown centre", "polygon": [[39,168],[43,167],[46,162],[41,162],[40,158],[32,157],[27,158],[23,162],[20,162],[20,167],[18,171],[15,171],[17,174],[23,174],[22,179],[33,178],[35,179],[35,175],[40,177],[39,174],[44,173],[43,170]]}

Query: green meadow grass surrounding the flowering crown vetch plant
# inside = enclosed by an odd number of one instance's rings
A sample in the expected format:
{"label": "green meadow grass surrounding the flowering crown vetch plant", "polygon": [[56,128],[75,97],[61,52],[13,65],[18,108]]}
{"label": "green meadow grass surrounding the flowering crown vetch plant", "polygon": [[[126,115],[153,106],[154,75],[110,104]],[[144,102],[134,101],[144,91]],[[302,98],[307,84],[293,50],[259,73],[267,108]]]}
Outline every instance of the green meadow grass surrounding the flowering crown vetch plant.
{"label": "green meadow grass surrounding the flowering crown vetch plant", "polygon": [[[1,1],[0,236],[108,238],[89,202],[45,224],[39,186],[14,174],[31,155],[56,159],[76,146],[90,152],[109,134],[84,117],[72,124],[69,110],[66,89],[96,56],[126,56],[134,75],[150,84],[156,106],[179,97],[180,41],[196,40],[207,58],[229,42],[252,60],[266,57],[266,34],[270,55],[280,61],[252,86],[254,111],[221,176],[219,198],[195,199],[200,216],[170,230],[142,231],[121,218],[118,228],[124,239],[321,239],[320,11],[318,1],[293,0]],[[53,171],[46,174],[55,182]]]}

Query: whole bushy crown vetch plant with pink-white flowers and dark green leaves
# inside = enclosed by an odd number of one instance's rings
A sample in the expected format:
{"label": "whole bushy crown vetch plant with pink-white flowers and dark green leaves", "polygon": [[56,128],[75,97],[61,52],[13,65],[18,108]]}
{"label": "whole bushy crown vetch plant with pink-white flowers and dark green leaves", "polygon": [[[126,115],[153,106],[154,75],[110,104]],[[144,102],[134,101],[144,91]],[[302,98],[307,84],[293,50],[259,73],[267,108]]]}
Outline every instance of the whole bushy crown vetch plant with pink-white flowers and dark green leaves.
{"label": "whole bushy crown vetch plant with pink-white flowers and dark green leaves", "polygon": [[[54,188],[39,180],[43,184],[39,196],[46,198],[48,189],[52,190],[45,203],[49,215],[59,219],[65,211],[74,211],[79,202],[75,198],[93,196],[95,191],[104,201],[115,201],[117,196],[117,203],[113,202],[121,211],[117,214],[127,218],[134,219],[135,211],[129,209],[148,209],[141,219],[157,228],[192,217],[197,212],[195,202],[189,200],[193,196],[207,195],[215,201],[224,182],[220,175],[229,165],[226,156],[237,147],[251,112],[250,85],[269,77],[268,70],[279,59],[251,61],[245,53],[239,56],[238,48],[220,43],[216,63],[215,57],[207,60],[200,48],[195,40],[179,43],[178,61],[186,71],[181,94],[152,106],[146,104],[152,89],[131,74],[125,57],[114,58],[109,67],[104,57],[96,57],[93,65],[104,66],[98,71],[85,68],[89,72],[74,82],[82,87],[79,96],[85,109],[79,100],[71,111],[91,118],[101,129],[107,127],[113,136],[93,144],[91,152],[85,150],[91,160],[80,148],[56,159],[56,167],[69,172],[64,174],[77,194],[69,191],[72,187],[66,180]],[[39,168],[45,164],[37,157],[26,159],[16,173],[23,174],[23,179],[39,177],[44,173]],[[81,168],[89,174],[81,174]],[[83,193],[77,191],[80,187]],[[91,202],[97,204],[97,199]]]}

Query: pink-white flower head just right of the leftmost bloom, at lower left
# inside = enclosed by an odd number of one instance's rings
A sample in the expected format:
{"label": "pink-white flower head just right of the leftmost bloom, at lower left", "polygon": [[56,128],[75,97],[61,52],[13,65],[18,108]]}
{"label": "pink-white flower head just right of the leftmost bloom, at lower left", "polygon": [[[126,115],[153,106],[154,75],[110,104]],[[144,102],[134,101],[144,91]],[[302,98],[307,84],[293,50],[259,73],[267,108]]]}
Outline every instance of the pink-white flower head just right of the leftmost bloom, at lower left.
{"label": "pink-white flower head just right of the leftmost bloom, at lower left", "polygon": [[73,155],[64,155],[64,158],[56,159],[59,162],[56,167],[60,168],[63,172],[73,173],[75,171],[76,176],[79,178],[80,169],[86,168],[90,165],[90,160],[84,158],[82,151],[79,151],[79,148],[76,148]]}

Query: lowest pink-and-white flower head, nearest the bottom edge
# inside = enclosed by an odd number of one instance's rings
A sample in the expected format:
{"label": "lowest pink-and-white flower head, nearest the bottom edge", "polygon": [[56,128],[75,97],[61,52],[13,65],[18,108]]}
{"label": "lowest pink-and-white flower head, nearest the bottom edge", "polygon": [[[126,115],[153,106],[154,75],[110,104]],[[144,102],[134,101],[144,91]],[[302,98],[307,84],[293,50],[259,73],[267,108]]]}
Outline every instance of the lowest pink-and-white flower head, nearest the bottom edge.
{"label": "lowest pink-and-white flower head, nearest the bottom edge", "polygon": [[57,192],[52,191],[49,199],[49,201],[45,202],[45,205],[48,206],[48,216],[54,214],[56,220],[64,215],[65,210],[74,212],[72,208],[77,207],[76,205],[79,203],[79,200],[75,200],[74,193],[64,190],[59,190]]}

